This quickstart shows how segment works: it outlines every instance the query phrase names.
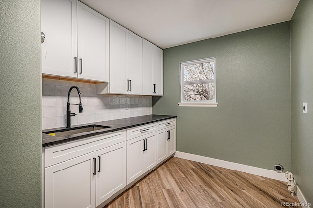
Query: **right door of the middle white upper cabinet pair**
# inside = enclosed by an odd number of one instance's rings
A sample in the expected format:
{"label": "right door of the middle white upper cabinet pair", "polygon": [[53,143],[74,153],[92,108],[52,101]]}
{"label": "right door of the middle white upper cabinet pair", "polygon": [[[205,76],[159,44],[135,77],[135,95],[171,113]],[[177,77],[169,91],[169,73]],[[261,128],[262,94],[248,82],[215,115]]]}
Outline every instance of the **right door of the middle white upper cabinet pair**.
{"label": "right door of the middle white upper cabinet pair", "polygon": [[142,94],[142,38],[128,31],[128,63],[126,77],[129,94]]}

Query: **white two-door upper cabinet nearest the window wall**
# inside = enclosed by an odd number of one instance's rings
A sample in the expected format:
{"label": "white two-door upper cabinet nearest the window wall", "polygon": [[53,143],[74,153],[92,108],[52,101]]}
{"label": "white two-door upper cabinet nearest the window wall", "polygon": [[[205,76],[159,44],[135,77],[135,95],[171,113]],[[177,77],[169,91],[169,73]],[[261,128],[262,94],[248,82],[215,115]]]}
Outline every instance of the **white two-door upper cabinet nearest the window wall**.
{"label": "white two-door upper cabinet nearest the window wall", "polygon": [[143,95],[163,95],[163,50],[143,40]]}

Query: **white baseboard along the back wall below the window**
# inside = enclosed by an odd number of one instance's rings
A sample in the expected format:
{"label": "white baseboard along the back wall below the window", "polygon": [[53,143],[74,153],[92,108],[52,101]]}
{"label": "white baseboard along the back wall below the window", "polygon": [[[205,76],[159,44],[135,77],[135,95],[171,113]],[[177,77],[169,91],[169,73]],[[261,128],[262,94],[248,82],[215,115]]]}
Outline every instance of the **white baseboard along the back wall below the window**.
{"label": "white baseboard along the back wall below the window", "polygon": [[186,159],[186,160],[192,160],[192,161],[201,162],[201,163],[205,163],[205,164],[209,164],[213,166],[218,166],[218,167],[227,168],[231,170],[237,170],[241,172],[250,173],[253,175],[259,175],[259,176],[287,182],[285,173],[283,172],[277,173],[275,170],[257,168],[253,166],[247,166],[247,165],[243,165],[239,163],[228,162],[225,160],[219,160],[219,159],[214,159],[210,157],[203,157],[200,155],[189,154],[189,153],[180,152],[180,151],[176,151],[174,156],[182,158],[182,159]]}

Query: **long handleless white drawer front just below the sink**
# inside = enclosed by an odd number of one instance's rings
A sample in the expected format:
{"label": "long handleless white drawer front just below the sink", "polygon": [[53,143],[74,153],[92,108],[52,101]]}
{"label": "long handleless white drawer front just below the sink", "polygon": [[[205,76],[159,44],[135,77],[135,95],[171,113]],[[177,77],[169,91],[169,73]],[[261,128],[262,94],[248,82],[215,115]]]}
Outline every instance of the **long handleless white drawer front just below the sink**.
{"label": "long handleless white drawer front just below the sink", "polygon": [[126,141],[125,130],[92,136],[83,140],[46,147],[45,167]]}

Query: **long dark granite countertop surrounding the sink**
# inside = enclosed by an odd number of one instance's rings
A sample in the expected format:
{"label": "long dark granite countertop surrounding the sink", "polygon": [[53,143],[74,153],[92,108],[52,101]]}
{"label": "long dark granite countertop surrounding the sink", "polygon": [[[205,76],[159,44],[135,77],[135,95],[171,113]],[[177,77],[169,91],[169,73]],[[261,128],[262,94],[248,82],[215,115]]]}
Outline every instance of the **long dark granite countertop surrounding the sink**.
{"label": "long dark granite countertop surrounding the sink", "polygon": [[[92,131],[92,132],[77,133],[74,135],[69,135],[69,136],[64,136],[64,137],[51,136],[51,135],[43,133],[43,147],[61,144],[61,143],[74,141],[78,139],[83,139],[83,138],[87,138],[90,136],[96,136],[96,135],[100,135],[103,133],[115,132],[118,130],[132,128],[135,126],[155,123],[155,122],[170,119],[170,118],[176,118],[176,116],[175,115],[144,115],[144,116],[116,119],[116,120],[110,120],[110,121],[94,122],[92,124],[101,125],[101,126],[110,126],[110,128]],[[90,124],[75,125],[75,126],[72,126],[72,128],[86,126],[86,125],[90,125]],[[43,132],[60,132],[64,129],[66,129],[66,127],[45,129],[43,130]]]}

